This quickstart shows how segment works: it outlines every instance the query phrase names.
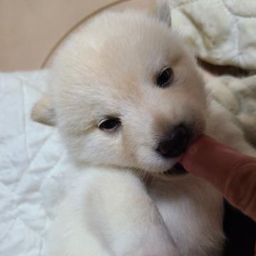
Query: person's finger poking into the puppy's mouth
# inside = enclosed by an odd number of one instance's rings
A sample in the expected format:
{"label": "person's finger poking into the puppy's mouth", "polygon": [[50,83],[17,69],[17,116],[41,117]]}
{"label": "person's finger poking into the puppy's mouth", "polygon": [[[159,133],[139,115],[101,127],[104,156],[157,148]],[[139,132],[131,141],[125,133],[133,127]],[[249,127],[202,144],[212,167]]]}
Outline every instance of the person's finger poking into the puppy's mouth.
{"label": "person's finger poking into the puppy's mouth", "polygon": [[181,164],[206,179],[233,206],[256,221],[256,159],[203,135],[186,151]]}

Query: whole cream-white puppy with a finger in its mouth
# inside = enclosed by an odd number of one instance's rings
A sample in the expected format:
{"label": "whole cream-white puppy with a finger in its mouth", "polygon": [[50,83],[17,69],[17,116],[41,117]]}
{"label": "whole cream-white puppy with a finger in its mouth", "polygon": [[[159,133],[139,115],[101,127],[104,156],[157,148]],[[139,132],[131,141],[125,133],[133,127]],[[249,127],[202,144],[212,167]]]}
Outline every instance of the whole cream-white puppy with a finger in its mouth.
{"label": "whole cream-white puppy with a finger in its mouth", "polygon": [[80,174],[50,228],[50,256],[221,254],[222,196],[175,165],[202,132],[253,149],[228,113],[208,106],[170,26],[163,3],[151,16],[105,12],[55,57],[32,117],[58,127]]}

